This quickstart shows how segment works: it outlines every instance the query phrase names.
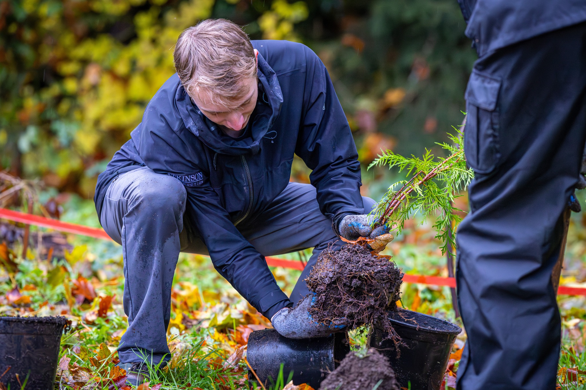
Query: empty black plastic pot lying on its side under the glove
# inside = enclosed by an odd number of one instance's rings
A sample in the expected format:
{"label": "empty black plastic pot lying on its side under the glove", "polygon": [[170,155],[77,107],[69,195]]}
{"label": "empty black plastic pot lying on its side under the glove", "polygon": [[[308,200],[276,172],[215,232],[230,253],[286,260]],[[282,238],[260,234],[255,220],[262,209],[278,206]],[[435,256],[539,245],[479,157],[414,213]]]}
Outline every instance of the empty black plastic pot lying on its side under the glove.
{"label": "empty black plastic pot lying on its side under the glove", "polygon": [[[293,384],[306,383],[317,389],[326,375],[335,370],[350,351],[345,338],[345,333],[336,333],[335,336],[296,340],[287,339],[274,329],[257,330],[248,336],[246,357],[265,386],[277,380],[283,363],[285,381],[292,371]],[[248,381],[254,388],[253,382],[257,381],[250,370]]]}

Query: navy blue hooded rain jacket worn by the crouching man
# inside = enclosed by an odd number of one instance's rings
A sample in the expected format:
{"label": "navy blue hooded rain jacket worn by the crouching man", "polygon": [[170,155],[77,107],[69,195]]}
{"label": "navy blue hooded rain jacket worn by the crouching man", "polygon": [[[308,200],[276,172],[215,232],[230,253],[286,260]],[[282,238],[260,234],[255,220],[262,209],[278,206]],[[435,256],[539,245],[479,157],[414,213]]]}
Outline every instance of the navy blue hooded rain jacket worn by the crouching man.
{"label": "navy blue hooded rain jacket worn by the crouching man", "polygon": [[322,61],[299,43],[253,46],[259,94],[250,137],[233,139],[217,129],[173,75],[98,177],[95,201],[100,215],[108,184],[141,165],[178,178],[188,193],[188,218],[214,267],[265,313],[288,298],[236,226],[262,223],[255,215],[287,187],[294,154],[313,170],[309,178],[325,215],[364,209],[356,146]]}

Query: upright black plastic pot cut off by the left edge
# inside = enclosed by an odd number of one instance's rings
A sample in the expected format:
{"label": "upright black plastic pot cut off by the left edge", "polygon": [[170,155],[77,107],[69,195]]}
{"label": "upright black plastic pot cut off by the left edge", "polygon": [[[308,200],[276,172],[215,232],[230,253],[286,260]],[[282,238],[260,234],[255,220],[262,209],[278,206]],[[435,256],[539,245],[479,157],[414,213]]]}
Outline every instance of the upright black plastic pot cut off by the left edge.
{"label": "upright black plastic pot cut off by the left edge", "polygon": [[0,317],[0,375],[10,367],[0,382],[20,389],[26,380],[25,389],[52,390],[66,323],[65,317]]}

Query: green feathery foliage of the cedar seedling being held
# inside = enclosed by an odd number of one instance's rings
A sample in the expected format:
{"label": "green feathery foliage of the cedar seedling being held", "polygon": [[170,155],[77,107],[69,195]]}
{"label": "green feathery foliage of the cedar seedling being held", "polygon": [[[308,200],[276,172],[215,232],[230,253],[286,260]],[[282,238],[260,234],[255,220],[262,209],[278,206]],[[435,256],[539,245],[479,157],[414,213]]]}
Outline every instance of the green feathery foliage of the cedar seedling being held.
{"label": "green feathery foliage of the cedar seedling being held", "polygon": [[474,172],[466,167],[464,136],[460,130],[454,129],[455,136],[448,133],[453,144],[437,143],[448,151],[447,158],[436,157],[427,149],[422,158],[413,155],[411,158],[403,157],[387,150],[369,165],[369,169],[385,165],[389,169],[397,167],[399,172],[406,171],[407,176],[411,177],[391,185],[377,203],[372,212],[377,216],[373,229],[387,225],[400,234],[405,220],[419,212],[424,220],[436,218],[435,237],[443,243],[442,253],[448,250],[448,246],[455,246],[455,236],[449,234],[449,230],[451,223],[457,225],[462,218],[457,213],[461,210],[454,207],[454,199],[461,189],[468,187]]}

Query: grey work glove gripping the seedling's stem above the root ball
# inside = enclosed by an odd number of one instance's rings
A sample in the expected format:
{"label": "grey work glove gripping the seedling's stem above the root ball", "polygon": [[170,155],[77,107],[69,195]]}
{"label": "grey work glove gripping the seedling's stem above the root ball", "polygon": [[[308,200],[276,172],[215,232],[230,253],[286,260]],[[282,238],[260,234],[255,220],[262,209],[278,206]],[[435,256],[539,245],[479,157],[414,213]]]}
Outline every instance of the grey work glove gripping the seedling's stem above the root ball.
{"label": "grey work glove gripping the seedling's stem above the root ball", "polygon": [[390,229],[386,225],[379,226],[373,230],[370,226],[372,226],[374,220],[376,220],[374,215],[349,214],[340,220],[338,232],[340,236],[350,241],[354,241],[358,237],[374,239],[373,242],[369,243],[370,249],[380,252],[388,243],[393,241],[394,237],[393,234],[389,233]]}

